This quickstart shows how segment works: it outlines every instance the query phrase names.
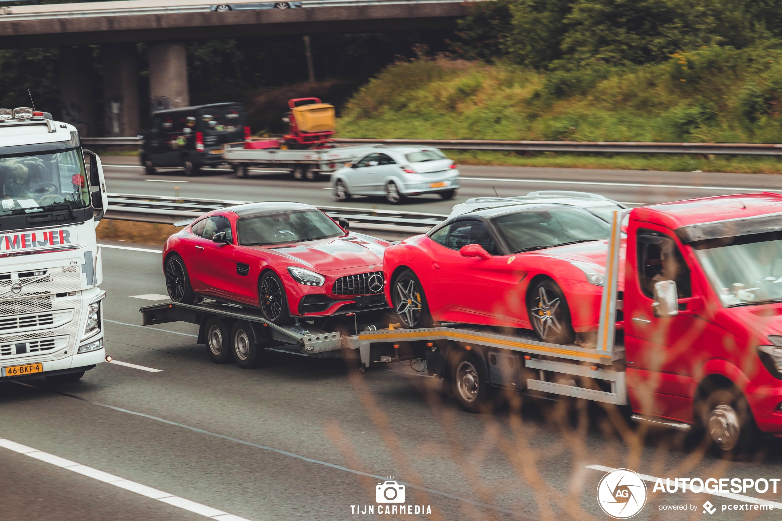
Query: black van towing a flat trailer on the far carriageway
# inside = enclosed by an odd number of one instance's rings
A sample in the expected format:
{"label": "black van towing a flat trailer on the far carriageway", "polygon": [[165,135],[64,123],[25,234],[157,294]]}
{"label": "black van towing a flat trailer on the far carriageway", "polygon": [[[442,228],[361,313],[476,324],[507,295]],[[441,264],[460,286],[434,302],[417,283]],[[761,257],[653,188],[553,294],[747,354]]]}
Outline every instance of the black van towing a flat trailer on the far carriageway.
{"label": "black van towing a flat trailer on the far carriageway", "polygon": [[152,113],[144,134],[141,159],[146,173],[181,166],[193,176],[202,166],[223,162],[224,143],[249,137],[247,112],[241,103],[213,103]]}

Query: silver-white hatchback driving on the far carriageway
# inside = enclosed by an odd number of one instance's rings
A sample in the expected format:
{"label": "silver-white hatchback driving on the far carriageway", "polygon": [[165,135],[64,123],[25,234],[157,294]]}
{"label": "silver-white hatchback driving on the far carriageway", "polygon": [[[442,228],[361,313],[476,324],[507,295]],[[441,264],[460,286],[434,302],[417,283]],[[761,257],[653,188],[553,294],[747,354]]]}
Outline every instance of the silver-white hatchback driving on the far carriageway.
{"label": "silver-white hatchback driving on the far carriageway", "polygon": [[382,195],[397,205],[411,195],[439,194],[452,199],[459,187],[459,170],[437,148],[381,148],[352,166],[332,174],[337,201],[353,195]]}

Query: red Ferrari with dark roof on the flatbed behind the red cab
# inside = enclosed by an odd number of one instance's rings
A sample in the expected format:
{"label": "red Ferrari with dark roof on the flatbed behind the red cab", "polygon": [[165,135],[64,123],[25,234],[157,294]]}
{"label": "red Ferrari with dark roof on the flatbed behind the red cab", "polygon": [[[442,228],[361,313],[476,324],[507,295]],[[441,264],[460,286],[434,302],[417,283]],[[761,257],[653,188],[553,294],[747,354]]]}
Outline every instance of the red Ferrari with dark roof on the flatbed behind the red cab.
{"label": "red Ferrari with dark roof on the flatbed behind the red cab", "polygon": [[609,234],[608,223],[572,205],[455,216],[386,249],[386,299],[407,328],[471,323],[594,342]]}

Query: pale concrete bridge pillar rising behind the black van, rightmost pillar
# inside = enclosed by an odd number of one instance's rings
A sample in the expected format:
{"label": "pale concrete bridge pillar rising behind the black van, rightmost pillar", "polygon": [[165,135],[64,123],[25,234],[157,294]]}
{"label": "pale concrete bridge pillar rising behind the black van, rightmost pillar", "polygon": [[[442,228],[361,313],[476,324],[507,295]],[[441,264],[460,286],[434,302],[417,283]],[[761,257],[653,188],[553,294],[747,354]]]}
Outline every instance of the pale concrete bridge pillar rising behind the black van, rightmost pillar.
{"label": "pale concrete bridge pillar rising behind the black van, rightmost pillar", "polygon": [[153,110],[190,104],[185,42],[149,44],[149,97]]}

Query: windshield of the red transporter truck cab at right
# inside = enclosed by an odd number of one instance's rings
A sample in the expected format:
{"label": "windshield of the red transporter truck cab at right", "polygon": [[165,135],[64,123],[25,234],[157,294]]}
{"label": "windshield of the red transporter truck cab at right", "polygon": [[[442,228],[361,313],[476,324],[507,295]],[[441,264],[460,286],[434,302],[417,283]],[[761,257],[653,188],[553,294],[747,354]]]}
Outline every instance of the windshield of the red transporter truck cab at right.
{"label": "windshield of the red transporter truck cab at right", "polygon": [[726,307],[782,301],[782,231],[692,245]]}

